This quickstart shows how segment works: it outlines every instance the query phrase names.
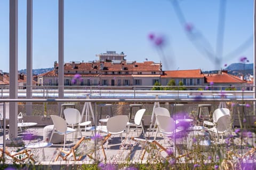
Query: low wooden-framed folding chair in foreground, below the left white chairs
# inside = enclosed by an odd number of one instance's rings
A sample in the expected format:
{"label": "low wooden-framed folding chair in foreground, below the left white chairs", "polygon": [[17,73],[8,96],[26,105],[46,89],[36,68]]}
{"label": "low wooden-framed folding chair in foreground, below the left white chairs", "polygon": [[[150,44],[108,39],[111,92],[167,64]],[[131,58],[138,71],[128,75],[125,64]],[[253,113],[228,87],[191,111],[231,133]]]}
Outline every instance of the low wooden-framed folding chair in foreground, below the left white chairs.
{"label": "low wooden-framed folding chair in foreground, below the left white chairs", "polygon": [[[74,147],[71,147],[71,149],[69,151],[65,151],[64,149],[60,149],[59,150],[59,153],[57,155],[57,157],[55,158],[54,161],[57,161],[59,158],[61,158],[62,160],[74,160],[74,161],[79,161],[83,158],[84,155],[86,155],[87,157],[93,159],[92,157],[92,154],[93,154],[93,149],[88,149],[90,151],[92,151],[91,153],[84,153],[83,152],[83,149],[87,148],[88,144],[87,143],[83,143],[85,141],[91,141],[90,138],[85,138],[85,137],[82,137],[75,145]],[[80,147],[80,148],[79,148]],[[94,144],[93,144],[93,147],[94,147]],[[103,148],[103,145],[101,143],[101,147],[102,147],[102,152],[103,152],[103,156],[105,158],[105,160],[107,159],[106,158],[106,153],[105,153],[105,150]],[[79,154],[80,153],[80,154]],[[73,159],[71,159],[73,158]]]}

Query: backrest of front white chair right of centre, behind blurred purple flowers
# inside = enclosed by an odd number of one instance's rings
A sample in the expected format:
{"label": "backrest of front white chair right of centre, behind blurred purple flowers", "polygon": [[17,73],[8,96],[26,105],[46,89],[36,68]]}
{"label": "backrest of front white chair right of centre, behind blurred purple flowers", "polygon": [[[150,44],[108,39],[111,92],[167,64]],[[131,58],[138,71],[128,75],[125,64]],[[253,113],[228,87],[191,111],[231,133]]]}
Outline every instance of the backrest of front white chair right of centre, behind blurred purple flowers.
{"label": "backrest of front white chair right of centre, behind blurred purple flowers", "polygon": [[156,120],[159,130],[163,132],[174,132],[175,122],[170,116],[157,115]]}

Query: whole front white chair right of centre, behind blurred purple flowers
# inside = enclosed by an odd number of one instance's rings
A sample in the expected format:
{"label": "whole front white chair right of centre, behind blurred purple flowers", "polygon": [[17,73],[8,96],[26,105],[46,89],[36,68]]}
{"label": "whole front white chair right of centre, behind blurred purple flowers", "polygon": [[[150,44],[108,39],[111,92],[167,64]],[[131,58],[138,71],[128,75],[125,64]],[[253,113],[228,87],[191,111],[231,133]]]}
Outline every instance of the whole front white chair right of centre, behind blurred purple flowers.
{"label": "whole front white chair right of centre, behind blurred purple flowers", "polygon": [[[158,131],[164,134],[164,139],[165,139],[165,135],[175,137],[176,133],[183,131],[183,129],[175,129],[175,121],[170,116],[157,115],[156,121],[157,121],[157,131],[156,131],[154,140],[156,140]],[[174,142],[173,142],[173,145],[174,145]]]}

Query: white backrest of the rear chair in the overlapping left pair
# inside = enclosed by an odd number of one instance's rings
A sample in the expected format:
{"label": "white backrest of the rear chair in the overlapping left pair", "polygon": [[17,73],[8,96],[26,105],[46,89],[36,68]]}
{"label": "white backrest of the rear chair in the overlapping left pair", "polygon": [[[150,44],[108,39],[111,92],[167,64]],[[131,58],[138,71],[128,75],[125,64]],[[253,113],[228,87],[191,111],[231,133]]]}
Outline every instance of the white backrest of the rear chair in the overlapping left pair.
{"label": "white backrest of the rear chair in the overlapping left pair", "polygon": [[81,123],[81,114],[79,110],[74,108],[67,108],[63,110],[66,122],[70,125]]}

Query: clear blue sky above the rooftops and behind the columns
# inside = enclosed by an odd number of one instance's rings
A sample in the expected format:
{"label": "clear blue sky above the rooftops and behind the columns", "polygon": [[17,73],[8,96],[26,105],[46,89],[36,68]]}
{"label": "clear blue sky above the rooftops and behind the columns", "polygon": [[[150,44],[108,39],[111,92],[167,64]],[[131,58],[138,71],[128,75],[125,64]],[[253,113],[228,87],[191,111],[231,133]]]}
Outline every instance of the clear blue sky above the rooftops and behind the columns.
{"label": "clear blue sky above the rooftops and behind the columns", "polygon": [[[26,69],[26,2],[18,5],[19,70]],[[253,0],[223,2],[65,0],[65,62],[97,60],[95,54],[116,51],[128,61],[161,61],[164,70],[220,69],[241,56],[252,63]],[[220,3],[226,7],[218,34]],[[58,61],[58,1],[34,0],[33,10],[33,69],[53,67]],[[163,37],[163,46],[154,45],[149,34]],[[9,0],[0,0],[0,59],[0,69],[8,72]]]}

